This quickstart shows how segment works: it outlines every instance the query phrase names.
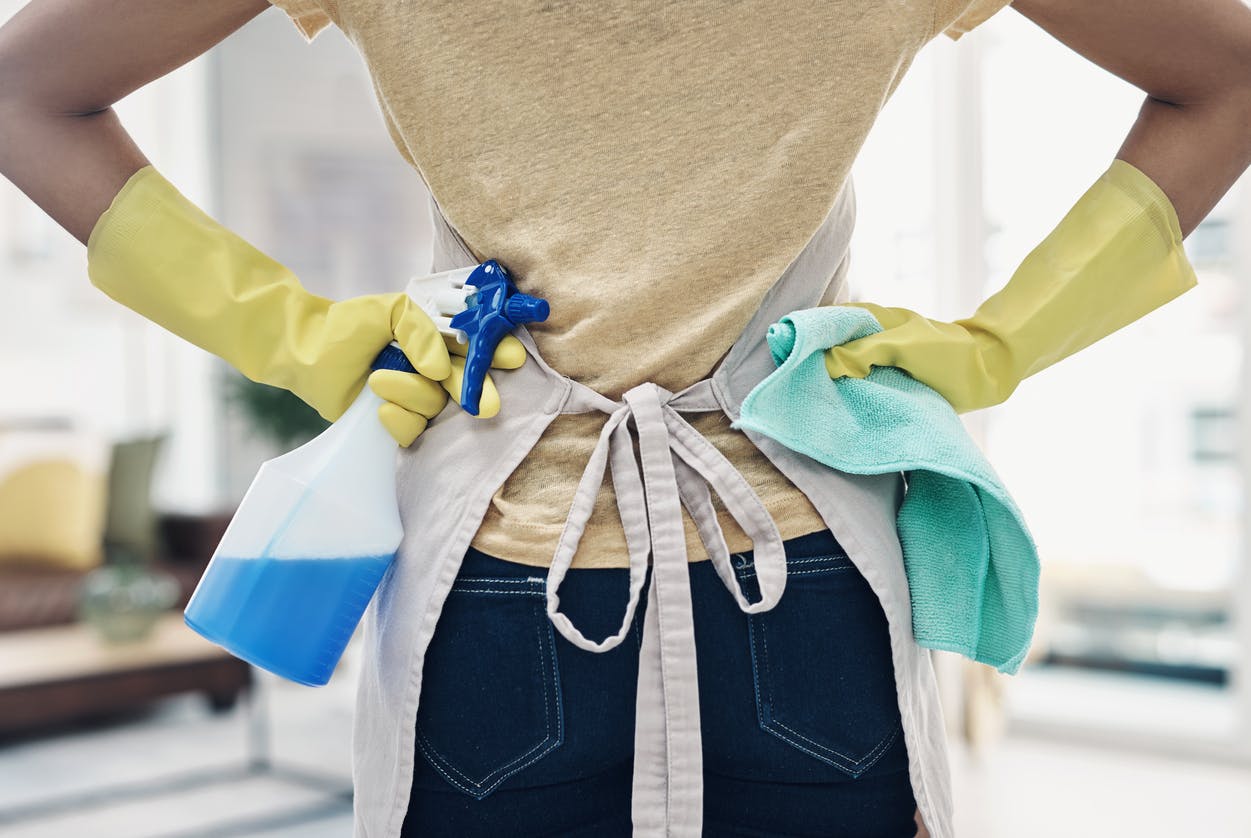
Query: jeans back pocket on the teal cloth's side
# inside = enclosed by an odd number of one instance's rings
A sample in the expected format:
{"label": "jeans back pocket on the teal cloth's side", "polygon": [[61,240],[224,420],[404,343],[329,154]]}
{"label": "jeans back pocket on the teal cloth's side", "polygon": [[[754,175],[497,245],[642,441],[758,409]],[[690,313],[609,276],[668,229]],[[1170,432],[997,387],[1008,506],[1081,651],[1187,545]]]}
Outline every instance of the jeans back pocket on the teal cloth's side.
{"label": "jeans back pocket on the teal cloth's side", "polygon": [[[758,598],[746,557],[736,573]],[[886,614],[847,553],[787,555],[778,604],[748,615],[759,725],[799,752],[859,777],[902,732]]]}

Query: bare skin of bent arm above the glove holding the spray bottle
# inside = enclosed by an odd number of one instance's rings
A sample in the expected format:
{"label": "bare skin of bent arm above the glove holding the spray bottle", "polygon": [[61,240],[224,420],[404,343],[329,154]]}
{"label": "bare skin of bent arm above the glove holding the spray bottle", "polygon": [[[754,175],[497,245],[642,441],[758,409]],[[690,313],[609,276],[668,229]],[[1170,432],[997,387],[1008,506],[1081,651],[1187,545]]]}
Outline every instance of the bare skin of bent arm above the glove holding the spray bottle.
{"label": "bare skin of bent arm above the glove holding the spray bottle", "polygon": [[0,174],[86,244],[149,164],[113,105],[205,53],[268,0],[33,0],[0,26]]}

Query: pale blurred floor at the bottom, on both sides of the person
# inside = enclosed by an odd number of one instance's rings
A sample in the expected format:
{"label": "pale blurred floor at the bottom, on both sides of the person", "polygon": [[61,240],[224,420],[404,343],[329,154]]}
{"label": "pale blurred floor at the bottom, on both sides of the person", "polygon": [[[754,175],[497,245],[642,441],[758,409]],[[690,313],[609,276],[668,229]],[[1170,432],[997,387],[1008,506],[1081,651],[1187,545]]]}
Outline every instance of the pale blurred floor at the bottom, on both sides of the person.
{"label": "pale blurred floor at the bottom, on both sides of the person", "polygon": [[[196,697],[109,727],[0,748],[3,838],[350,838],[354,649],[330,684],[308,688],[259,672],[269,697],[271,758],[328,789],[258,773],[191,782],[156,797],[5,819],[53,795],[196,769],[243,770],[248,714],[214,717]],[[1251,769],[1016,738],[977,762],[953,753],[960,838],[1251,835]]]}

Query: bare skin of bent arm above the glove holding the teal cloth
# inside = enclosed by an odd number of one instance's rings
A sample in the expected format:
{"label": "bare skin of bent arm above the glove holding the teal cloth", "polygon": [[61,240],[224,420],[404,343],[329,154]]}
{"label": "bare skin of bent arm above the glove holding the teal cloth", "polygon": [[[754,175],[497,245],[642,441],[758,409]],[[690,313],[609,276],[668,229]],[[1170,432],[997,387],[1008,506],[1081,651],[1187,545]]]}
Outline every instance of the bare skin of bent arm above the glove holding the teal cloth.
{"label": "bare skin of bent arm above the glove holding the teal cloth", "polygon": [[1015,0],[1147,94],[1116,156],[1156,181],[1183,235],[1251,165],[1251,6],[1242,0]]}

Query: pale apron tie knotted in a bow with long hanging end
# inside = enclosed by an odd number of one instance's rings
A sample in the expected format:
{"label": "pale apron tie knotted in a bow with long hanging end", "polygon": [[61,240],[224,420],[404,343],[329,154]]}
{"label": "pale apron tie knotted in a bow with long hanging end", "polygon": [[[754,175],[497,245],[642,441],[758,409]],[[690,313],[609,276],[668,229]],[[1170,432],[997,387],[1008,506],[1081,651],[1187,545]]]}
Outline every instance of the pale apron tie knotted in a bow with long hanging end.
{"label": "pale apron tie knotted in a bow with long hanging end", "polygon": [[[628,390],[623,401],[612,401],[577,381],[573,384],[585,406],[609,415],[574,493],[548,570],[547,613],[575,647],[588,652],[612,649],[629,633],[651,554],[652,585],[643,622],[636,698],[634,834],[697,837],[703,820],[703,752],[681,507],[686,507],[694,520],[717,575],[739,609],[748,614],[773,608],[782,597],[786,587],[782,535],[743,475],[678,414],[681,409],[719,409],[712,379],[702,379],[677,395],[646,381]],[[638,432],[639,459],[634,458],[631,418]],[[608,463],[629,555],[629,600],[620,629],[592,642],[560,612],[558,592],[590,518]],[[734,577],[709,487],[752,539],[761,589],[758,602],[747,600]]]}

